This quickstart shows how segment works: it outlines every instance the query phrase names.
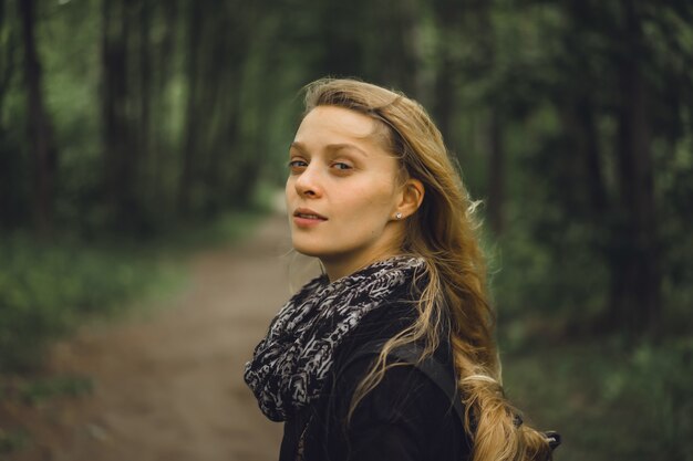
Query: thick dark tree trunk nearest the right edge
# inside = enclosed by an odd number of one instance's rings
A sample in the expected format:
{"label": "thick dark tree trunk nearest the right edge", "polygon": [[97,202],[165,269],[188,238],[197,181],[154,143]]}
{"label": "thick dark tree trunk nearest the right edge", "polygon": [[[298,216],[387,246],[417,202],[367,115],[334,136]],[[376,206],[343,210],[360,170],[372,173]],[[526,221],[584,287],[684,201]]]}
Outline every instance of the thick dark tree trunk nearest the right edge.
{"label": "thick dark tree trunk nearest the right edge", "polygon": [[619,70],[618,172],[621,198],[620,226],[613,240],[619,252],[612,263],[610,322],[630,333],[655,331],[660,317],[659,254],[650,121],[647,86],[638,56],[643,36],[632,0],[622,0],[624,43],[629,44]]}

